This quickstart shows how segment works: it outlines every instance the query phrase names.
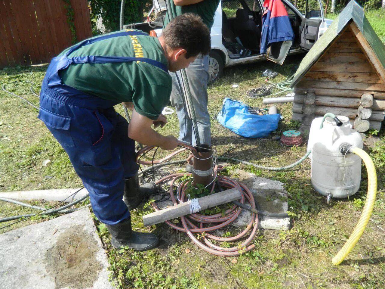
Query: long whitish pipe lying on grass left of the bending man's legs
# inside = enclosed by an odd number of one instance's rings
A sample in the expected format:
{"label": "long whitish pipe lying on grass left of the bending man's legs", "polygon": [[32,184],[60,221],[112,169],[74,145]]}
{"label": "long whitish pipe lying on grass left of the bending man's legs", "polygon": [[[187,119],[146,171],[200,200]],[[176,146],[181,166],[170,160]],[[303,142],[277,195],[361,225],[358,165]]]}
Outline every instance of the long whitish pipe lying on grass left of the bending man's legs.
{"label": "long whitish pipe lying on grass left of the bending man's legs", "polygon": [[[76,191],[78,191],[75,193]],[[75,193],[74,195],[72,195]],[[16,191],[16,192],[0,192],[0,197],[10,198],[13,200],[45,200],[45,201],[58,201],[65,200],[66,203],[70,203],[76,199],[84,197],[88,194],[86,188],[75,189],[55,189],[55,190],[33,190],[33,191]],[[71,196],[72,195],[72,196]],[[69,197],[71,196],[71,197]]]}

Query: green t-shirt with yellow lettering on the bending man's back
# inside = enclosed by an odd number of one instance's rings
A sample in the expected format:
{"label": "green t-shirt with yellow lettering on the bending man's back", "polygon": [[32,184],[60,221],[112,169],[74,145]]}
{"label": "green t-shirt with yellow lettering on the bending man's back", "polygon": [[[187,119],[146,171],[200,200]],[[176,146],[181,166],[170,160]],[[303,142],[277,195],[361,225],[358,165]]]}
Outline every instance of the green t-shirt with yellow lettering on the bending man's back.
{"label": "green t-shirt with yellow lettering on the bending man's back", "polygon": [[[117,32],[111,34],[114,33]],[[100,40],[80,47],[69,57],[82,55],[144,57],[168,67],[159,40],[144,35]],[[137,113],[154,120],[168,104],[172,89],[171,76],[146,62],[71,64],[59,75],[63,84],[87,94],[112,101],[133,102]]]}

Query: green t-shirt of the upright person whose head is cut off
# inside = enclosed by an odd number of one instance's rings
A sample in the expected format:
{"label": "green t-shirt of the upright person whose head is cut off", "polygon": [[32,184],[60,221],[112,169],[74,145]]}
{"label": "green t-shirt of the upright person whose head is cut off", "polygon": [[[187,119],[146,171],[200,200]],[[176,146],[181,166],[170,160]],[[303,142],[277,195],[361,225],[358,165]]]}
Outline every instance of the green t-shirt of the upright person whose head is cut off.
{"label": "green t-shirt of the upright person whose head is cut off", "polygon": [[[202,17],[204,24],[206,24],[210,30],[214,23],[215,10],[216,8],[218,8],[220,1],[221,0],[203,0],[202,2],[198,2],[196,4],[176,6],[174,4],[174,1],[170,0],[170,4],[172,15],[174,15],[174,18],[187,12],[195,13]],[[168,23],[168,14],[166,14],[163,27],[166,27]]]}

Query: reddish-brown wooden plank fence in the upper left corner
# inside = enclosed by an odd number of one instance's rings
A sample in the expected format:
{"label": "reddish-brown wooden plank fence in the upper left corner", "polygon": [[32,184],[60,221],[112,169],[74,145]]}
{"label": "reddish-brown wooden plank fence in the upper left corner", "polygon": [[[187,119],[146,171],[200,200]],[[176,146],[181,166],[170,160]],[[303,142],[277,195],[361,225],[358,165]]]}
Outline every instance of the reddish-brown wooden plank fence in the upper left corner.
{"label": "reddish-brown wooden plank fence in the upper left corner", "polygon": [[[87,0],[0,0],[0,68],[50,62],[77,41],[92,36]],[[73,24],[67,13],[73,11]]]}

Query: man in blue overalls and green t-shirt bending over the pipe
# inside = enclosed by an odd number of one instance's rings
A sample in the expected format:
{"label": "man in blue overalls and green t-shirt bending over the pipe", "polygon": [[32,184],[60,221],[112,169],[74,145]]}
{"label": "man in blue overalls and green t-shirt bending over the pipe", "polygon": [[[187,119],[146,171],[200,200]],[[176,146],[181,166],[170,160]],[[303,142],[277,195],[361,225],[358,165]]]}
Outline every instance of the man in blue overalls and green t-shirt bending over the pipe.
{"label": "man in blue overalls and green t-shirt bending over the pipe", "polygon": [[[154,189],[139,187],[135,141],[164,150],[177,146],[174,136],[151,128],[167,122],[161,111],[172,89],[168,71],[189,66],[209,49],[206,25],[188,13],[159,39],[138,30],[93,37],[64,50],[47,69],[38,118],[68,153],[115,248],[142,251],[158,243],[156,235],[131,229],[129,209]],[[130,124],[114,110],[120,102],[132,110]]]}

